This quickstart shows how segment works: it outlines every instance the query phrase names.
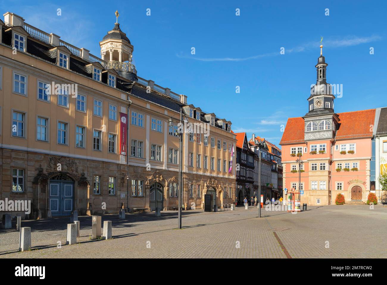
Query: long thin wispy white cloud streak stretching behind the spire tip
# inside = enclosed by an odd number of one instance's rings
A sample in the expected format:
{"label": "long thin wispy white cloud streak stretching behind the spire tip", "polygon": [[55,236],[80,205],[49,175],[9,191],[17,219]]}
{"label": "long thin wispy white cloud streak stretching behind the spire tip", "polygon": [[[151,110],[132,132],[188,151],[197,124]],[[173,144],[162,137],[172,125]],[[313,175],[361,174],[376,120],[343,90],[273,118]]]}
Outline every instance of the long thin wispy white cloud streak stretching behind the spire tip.
{"label": "long thin wispy white cloud streak stretching behind the spire tip", "polygon": [[[362,43],[370,43],[372,41],[379,41],[382,40],[381,36],[378,35],[372,35],[372,36],[346,36],[344,38],[332,38],[328,40],[324,40],[323,44],[326,47],[330,48],[339,48],[339,47],[350,47],[355,45],[360,45]],[[320,43],[316,41],[310,41],[307,43],[304,43],[303,45],[300,45],[298,47],[294,48],[285,48],[285,53],[296,53],[296,52],[304,52],[305,50],[310,50],[311,48],[317,48],[320,46]],[[176,54],[179,58],[185,58],[185,59],[194,59],[199,61],[245,61],[245,60],[251,60],[251,59],[260,59],[262,57],[272,57],[275,55],[280,55],[280,50],[277,52],[269,52],[265,54],[258,54],[258,55],[252,55],[248,57],[212,57],[212,58],[203,58],[203,57],[196,57],[193,55],[183,55],[183,54]]]}

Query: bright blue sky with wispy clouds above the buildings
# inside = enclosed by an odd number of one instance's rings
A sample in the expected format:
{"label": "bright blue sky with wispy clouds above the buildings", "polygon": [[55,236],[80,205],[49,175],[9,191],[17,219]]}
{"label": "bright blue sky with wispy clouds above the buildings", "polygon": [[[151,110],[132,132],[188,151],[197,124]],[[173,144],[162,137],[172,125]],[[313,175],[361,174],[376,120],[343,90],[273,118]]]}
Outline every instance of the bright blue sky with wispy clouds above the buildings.
{"label": "bright blue sky with wispy clouds above the buildings", "polygon": [[327,82],[343,86],[335,112],[387,105],[385,1],[12,0],[0,7],[97,56],[118,9],[140,77],[187,95],[235,132],[275,144],[288,117],[308,112],[321,36]]}

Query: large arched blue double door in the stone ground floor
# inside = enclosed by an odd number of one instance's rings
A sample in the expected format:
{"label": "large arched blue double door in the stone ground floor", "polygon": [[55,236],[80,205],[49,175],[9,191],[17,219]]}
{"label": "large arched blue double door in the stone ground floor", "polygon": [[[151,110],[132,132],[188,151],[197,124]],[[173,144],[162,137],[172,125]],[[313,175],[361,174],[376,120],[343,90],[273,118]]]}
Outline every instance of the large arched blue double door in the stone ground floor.
{"label": "large arched blue double door in the stone ground floor", "polygon": [[49,205],[52,216],[69,216],[74,209],[74,180],[66,174],[50,178]]}

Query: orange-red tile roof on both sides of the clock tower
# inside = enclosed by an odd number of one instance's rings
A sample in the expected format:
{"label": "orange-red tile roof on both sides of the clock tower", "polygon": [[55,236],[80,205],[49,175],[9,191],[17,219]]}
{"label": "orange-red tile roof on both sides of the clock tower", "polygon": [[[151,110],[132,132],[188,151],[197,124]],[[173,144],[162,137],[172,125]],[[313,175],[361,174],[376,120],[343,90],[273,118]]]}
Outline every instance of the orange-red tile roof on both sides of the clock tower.
{"label": "orange-red tile roof on both sides of the clock tower", "polygon": [[[372,136],[375,109],[337,113],[339,126],[336,139],[365,138]],[[304,119],[289,118],[280,145],[304,142]]]}

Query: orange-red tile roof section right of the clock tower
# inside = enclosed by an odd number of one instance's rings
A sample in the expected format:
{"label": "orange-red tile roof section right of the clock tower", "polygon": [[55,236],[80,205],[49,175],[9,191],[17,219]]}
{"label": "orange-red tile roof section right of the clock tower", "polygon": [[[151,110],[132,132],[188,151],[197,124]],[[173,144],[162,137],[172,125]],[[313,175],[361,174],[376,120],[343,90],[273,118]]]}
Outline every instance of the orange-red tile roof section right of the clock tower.
{"label": "orange-red tile roof section right of the clock tower", "polygon": [[369,109],[337,114],[340,121],[336,140],[372,136],[375,111],[376,109]]}

